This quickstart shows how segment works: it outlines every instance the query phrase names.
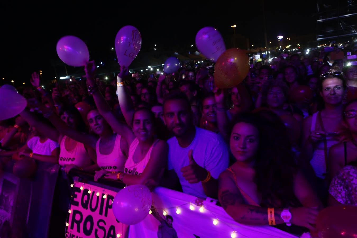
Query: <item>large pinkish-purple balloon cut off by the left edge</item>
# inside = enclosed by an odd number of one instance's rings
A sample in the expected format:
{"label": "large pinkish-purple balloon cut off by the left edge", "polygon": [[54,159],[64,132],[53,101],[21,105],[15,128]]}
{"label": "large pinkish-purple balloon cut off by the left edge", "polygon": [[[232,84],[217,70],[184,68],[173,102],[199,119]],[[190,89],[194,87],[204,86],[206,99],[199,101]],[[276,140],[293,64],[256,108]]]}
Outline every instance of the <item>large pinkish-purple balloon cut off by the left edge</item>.
{"label": "large pinkish-purple balloon cut off by the left edge", "polygon": [[0,88],[0,120],[16,116],[25,109],[26,105],[26,99],[19,93]]}

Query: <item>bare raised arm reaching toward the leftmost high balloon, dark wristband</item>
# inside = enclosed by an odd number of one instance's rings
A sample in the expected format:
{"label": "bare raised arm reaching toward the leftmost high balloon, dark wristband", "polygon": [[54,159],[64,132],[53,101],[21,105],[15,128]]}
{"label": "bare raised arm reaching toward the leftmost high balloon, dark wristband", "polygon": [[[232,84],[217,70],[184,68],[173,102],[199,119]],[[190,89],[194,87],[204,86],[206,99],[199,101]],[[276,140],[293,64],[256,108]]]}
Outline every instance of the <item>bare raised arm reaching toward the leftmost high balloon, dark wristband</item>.
{"label": "bare raised arm reaching toward the leftmost high balloon, dark wristband", "polygon": [[92,95],[99,113],[109,123],[113,131],[124,137],[128,142],[128,144],[130,145],[131,142],[134,141],[135,139],[135,135],[132,132],[131,128],[128,127],[127,125],[124,125],[119,120],[117,120],[113,112],[110,110],[110,107],[107,101],[105,100],[105,98],[103,97],[102,93],[100,92],[100,90],[96,89],[97,85],[94,78],[95,69],[96,69],[95,62],[90,61],[86,63],[84,69],[86,71],[87,82],[89,86],[92,88]]}

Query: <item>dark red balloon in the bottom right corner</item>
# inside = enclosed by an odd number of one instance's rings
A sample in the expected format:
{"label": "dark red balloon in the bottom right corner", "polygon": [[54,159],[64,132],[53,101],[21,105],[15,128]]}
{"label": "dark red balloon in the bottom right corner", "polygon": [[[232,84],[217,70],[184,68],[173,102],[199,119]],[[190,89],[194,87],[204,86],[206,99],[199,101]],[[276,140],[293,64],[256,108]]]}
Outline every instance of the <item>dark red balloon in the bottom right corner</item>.
{"label": "dark red balloon in the bottom right corner", "polygon": [[327,207],[318,213],[316,229],[318,237],[357,237],[357,207],[338,205]]}

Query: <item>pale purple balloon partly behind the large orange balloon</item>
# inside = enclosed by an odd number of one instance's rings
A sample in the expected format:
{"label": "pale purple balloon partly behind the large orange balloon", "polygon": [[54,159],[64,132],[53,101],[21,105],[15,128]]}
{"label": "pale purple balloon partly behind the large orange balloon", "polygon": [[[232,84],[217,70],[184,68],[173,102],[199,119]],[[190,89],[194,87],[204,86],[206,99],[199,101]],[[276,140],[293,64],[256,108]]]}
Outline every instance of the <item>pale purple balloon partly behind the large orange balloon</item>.
{"label": "pale purple balloon partly behind the large orange balloon", "polygon": [[223,38],[217,29],[206,26],[196,34],[196,46],[207,59],[216,62],[218,57],[226,51]]}

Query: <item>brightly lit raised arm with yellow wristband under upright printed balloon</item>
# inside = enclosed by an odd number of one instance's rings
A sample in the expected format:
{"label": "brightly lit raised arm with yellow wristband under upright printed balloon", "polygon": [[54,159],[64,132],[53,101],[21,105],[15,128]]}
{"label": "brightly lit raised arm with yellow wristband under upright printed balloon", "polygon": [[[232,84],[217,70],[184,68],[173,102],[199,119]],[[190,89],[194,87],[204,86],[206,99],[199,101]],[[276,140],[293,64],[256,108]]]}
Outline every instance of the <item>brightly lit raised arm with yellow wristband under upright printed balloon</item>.
{"label": "brightly lit raised arm with yellow wristband under upright printed balloon", "polygon": [[126,123],[131,127],[131,122],[134,117],[134,105],[130,98],[129,91],[124,87],[125,77],[129,75],[129,69],[125,66],[120,67],[120,73],[118,74],[118,100],[120,105],[120,110],[123,113]]}

